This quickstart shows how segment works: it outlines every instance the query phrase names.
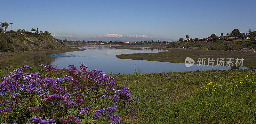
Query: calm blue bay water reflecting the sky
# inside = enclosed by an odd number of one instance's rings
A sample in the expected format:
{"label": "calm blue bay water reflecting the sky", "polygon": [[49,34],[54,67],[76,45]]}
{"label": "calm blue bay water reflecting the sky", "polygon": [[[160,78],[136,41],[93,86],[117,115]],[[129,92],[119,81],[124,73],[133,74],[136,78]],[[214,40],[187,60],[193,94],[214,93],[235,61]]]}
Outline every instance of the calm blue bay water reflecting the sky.
{"label": "calm blue bay water reflecting the sky", "polygon": [[[58,68],[68,68],[68,65],[75,65],[80,68],[80,63],[84,63],[89,69],[102,70],[112,74],[132,74],[132,73],[152,73],[152,72],[186,72],[210,69],[232,69],[231,67],[197,67],[196,65],[186,67],[184,63],[155,62],[146,60],[118,59],[116,55],[126,53],[156,53],[166,50],[138,47],[143,50],[117,49],[113,46],[72,46],[74,48],[87,49],[85,51],[74,51],[64,53],[48,53],[45,57],[53,64],[58,64]],[[24,61],[33,62],[39,56],[34,55]],[[185,60],[184,60],[185,61]],[[246,69],[248,67],[239,67]]]}

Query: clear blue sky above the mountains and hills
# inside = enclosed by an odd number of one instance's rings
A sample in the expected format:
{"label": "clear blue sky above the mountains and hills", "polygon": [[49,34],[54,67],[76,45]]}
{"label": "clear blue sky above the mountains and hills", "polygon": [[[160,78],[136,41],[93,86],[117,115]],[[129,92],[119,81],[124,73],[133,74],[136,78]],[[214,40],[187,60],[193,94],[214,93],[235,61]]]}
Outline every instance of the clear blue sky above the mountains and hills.
{"label": "clear blue sky above the mountains and hills", "polygon": [[[1,1],[0,22],[12,29],[76,37],[113,34],[178,39],[237,28],[256,30],[256,0]],[[7,30],[11,30],[9,26]]]}

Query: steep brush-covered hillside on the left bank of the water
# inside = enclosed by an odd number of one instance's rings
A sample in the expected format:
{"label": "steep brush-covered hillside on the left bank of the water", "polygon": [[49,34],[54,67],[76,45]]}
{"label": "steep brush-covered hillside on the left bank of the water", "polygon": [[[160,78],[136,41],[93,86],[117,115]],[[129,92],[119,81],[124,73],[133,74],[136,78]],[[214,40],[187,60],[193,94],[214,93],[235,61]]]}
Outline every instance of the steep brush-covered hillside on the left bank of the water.
{"label": "steep brush-covered hillside on the left bank of the water", "polygon": [[[27,49],[24,49],[24,45]],[[0,33],[1,52],[40,51],[68,49],[63,42],[58,42],[50,35],[31,35],[18,33]]]}

